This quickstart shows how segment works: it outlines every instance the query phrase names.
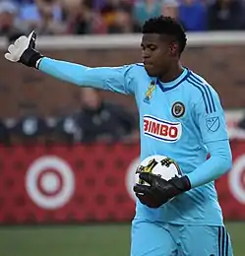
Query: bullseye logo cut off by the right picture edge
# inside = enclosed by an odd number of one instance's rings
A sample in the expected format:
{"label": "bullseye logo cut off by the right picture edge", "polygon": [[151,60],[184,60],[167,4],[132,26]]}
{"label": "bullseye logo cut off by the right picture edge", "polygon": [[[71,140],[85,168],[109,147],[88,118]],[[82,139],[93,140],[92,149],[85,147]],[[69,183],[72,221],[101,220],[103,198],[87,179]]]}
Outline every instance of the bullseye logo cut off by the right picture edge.
{"label": "bullseye logo cut off by the right picture edge", "polygon": [[241,204],[245,204],[245,155],[234,161],[228,182],[234,198]]}

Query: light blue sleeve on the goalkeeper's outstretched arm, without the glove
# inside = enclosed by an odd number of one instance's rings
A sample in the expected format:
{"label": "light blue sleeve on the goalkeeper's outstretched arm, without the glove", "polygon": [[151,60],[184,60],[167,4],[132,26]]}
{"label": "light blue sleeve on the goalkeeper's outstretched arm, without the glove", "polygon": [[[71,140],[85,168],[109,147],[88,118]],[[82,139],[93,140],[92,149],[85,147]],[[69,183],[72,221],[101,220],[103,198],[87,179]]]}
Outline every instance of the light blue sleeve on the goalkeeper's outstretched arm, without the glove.
{"label": "light blue sleeve on the goalkeeper's outstretched arm, without the glove", "polygon": [[40,61],[38,66],[38,70],[59,80],[81,87],[92,87],[124,95],[135,93],[133,68],[134,65],[90,68],[46,57]]}

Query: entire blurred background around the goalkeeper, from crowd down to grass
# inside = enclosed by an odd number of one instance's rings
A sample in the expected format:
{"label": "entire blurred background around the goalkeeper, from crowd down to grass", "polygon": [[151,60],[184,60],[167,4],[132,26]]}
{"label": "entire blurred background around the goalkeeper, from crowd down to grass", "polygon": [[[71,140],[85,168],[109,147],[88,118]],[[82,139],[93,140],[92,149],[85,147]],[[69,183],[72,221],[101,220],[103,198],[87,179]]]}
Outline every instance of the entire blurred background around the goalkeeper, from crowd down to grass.
{"label": "entire blurred background around the goalkeeper, from crowd down to grass", "polygon": [[225,109],[233,167],[215,185],[234,255],[245,255],[244,8],[244,0],[0,0],[1,256],[129,255],[140,153],[131,96],[8,63],[8,43],[35,30],[52,58],[141,62],[141,26],[161,14],[183,25],[183,65]]}

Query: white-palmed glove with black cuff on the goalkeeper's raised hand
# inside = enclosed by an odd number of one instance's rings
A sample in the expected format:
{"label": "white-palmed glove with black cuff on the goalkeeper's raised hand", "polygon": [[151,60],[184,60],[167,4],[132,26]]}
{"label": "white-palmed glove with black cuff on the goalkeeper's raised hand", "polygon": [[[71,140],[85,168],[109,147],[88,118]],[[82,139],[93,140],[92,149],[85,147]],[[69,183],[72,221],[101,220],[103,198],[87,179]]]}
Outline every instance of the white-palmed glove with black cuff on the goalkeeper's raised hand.
{"label": "white-palmed glove with black cuff on the goalkeeper's raised hand", "polygon": [[31,32],[28,37],[20,36],[13,44],[9,45],[8,52],[4,55],[5,58],[12,62],[21,62],[28,67],[38,68],[38,60],[43,56],[34,49],[35,39],[35,32]]}

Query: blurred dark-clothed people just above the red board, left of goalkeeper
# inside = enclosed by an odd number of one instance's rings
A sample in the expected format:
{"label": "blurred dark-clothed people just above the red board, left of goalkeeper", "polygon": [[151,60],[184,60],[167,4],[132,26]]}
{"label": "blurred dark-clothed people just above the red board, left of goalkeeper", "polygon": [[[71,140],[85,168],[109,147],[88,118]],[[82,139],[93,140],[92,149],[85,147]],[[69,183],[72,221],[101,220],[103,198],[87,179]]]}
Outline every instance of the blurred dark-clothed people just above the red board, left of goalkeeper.
{"label": "blurred dark-clothed people just above the red board, left of goalkeeper", "polygon": [[81,107],[63,116],[36,115],[27,111],[19,118],[0,119],[0,145],[138,141],[138,118],[121,105],[107,102],[100,92],[81,90]]}

